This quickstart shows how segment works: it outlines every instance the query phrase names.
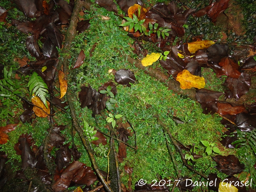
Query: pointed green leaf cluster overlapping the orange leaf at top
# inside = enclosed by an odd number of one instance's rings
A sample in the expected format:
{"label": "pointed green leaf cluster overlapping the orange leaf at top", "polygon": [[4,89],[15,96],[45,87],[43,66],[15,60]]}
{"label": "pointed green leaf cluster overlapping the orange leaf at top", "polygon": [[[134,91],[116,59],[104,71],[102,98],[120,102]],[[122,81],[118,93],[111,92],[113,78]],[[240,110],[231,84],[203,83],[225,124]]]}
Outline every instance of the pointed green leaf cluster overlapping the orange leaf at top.
{"label": "pointed green leaf cluster overlapping the orange leaf at top", "polygon": [[140,31],[140,33],[142,33],[142,31],[145,32],[147,29],[142,24],[145,22],[146,19],[139,20],[136,15],[132,14],[132,16],[133,16],[133,19],[129,17],[124,17],[127,20],[127,22],[121,24],[120,26],[122,27],[129,26],[129,30],[132,30],[132,28],[134,27],[134,32],[138,30]]}

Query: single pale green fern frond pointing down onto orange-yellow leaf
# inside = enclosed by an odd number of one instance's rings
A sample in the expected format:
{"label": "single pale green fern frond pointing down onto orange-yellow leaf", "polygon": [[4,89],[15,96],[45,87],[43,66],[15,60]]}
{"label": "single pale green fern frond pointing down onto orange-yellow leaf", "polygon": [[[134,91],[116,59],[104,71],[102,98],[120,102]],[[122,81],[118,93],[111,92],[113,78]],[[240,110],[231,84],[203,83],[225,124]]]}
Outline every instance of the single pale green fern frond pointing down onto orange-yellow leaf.
{"label": "single pale green fern frond pointing down onto orange-yellow leaf", "polygon": [[46,103],[48,87],[44,80],[37,74],[37,72],[33,72],[27,86],[29,87],[30,93],[35,94],[35,96],[38,96],[48,109],[48,105]]}

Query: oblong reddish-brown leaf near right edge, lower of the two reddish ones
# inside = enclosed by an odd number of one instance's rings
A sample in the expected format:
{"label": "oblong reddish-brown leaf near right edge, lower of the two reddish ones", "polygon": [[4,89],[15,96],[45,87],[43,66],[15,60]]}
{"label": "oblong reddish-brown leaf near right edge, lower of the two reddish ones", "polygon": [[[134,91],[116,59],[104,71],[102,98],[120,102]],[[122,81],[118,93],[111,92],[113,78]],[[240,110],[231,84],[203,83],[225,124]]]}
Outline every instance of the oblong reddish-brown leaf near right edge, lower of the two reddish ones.
{"label": "oblong reddish-brown leaf near right edge, lower of the two reddish ones", "polygon": [[247,112],[244,105],[238,105],[236,103],[229,102],[217,102],[218,111],[221,115],[236,115],[238,113]]}

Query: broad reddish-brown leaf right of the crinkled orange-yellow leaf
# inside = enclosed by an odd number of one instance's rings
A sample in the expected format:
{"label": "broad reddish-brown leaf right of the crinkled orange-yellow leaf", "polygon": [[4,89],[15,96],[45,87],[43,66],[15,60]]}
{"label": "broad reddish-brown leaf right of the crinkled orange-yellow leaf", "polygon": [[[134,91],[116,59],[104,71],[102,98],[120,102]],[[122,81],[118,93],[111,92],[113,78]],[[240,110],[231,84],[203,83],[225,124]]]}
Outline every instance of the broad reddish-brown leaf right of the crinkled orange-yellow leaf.
{"label": "broad reddish-brown leaf right of the crinkled orange-yellow leaf", "polygon": [[222,75],[229,76],[230,78],[238,78],[241,75],[241,72],[238,71],[239,65],[235,63],[230,57],[222,58],[219,62],[219,66],[221,66],[221,70],[215,71],[217,77],[221,77]]}

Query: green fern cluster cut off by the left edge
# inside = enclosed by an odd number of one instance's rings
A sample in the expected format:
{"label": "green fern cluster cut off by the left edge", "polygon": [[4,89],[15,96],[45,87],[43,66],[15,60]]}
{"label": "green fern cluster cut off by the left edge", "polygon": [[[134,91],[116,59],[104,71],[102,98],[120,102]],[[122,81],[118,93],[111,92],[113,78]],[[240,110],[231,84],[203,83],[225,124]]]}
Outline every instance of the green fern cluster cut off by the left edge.
{"label": "green fern cluster cut off by the left edge", "polygon": [[[20,85],[15,82],[14,80],[11,80],[12,76],[12,68],[10,68],[10,71],[8,72],[6,67],[4,66],[4,78],[0,80],[0,100],[3,103],[3,106],[5,106],[1,112],[0,112],[0,120],[3,120],[9,115],[14,116],[14,112],[11,110],[11,106],[14,104],[12,101],[18,102],[16,99],[16,96],[14,94],[20,94],[20,91],[17,91],[16,89],[19,89]],[[4,87],[7,87],[8,89],[4,89]]]}

